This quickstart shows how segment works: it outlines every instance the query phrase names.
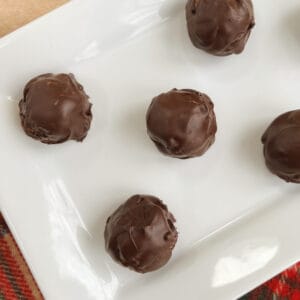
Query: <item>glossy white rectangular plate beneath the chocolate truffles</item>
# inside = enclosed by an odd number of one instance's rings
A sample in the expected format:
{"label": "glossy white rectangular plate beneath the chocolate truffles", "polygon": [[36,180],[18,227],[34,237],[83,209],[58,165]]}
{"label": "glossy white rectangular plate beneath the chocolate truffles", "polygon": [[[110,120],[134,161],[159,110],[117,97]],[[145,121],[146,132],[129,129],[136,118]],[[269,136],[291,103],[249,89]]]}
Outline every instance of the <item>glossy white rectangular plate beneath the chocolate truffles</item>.
{"label": "glossy white rectangular plate beneath the chocolate truffles", "polygon": [[[299,108],[300,3],[254,1],[243,54],[189,41],[184,1],[72,1],[0,40],[0,204],[53,300],[234,299],[300,258],[299,186],[271,175],[260,137]],[[43,145],[20,126],[24,84],[72,72],[93,103],[83,143]],[[161,155],[146,134],[151,99],[193,88],[215,103],[218,134],[200,158]],[[136,193],[163,199],[179,240],[160,271],[105,253],[106,218]]]}

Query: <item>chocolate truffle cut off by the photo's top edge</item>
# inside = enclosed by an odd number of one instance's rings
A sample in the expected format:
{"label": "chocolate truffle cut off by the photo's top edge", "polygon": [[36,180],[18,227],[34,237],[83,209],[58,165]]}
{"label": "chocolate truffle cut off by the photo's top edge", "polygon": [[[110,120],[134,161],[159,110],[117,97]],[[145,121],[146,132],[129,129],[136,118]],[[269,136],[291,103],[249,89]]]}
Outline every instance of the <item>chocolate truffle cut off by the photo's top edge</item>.
{"label": "chocolate truffle cut off by the photo's top edge", "polygon": [[219,56],[241,53],[255,25],[251,0],[188,0],[186,18],[194,46]]}

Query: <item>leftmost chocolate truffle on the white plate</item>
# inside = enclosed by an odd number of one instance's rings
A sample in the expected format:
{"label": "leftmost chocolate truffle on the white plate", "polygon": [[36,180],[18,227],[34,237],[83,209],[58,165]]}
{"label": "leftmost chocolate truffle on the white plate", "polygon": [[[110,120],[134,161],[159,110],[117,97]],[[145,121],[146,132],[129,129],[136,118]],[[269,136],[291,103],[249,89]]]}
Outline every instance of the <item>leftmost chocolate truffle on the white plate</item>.
{"label": "leftmost chocolate truffle on the white plate", "polygon": [[30,80],[19,103],[24,131],[45,144],[82,141],[90,128],[89,97],[73,74],[43,74]]}

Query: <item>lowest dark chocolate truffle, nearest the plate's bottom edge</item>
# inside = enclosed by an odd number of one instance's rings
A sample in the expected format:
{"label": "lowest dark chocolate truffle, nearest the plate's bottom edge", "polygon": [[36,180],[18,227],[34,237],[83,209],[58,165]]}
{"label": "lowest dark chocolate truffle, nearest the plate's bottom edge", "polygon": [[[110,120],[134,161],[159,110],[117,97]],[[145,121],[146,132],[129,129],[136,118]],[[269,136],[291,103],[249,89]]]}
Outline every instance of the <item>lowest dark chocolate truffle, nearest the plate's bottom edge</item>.
{"label": "lowest dark chocolate truffle, nearest the plate's bottom edge", "polygon": [[105,246],[118,263],[139,273],[165,265],[177,242],[175,218],[156,197],[135,195],[106,222]]}

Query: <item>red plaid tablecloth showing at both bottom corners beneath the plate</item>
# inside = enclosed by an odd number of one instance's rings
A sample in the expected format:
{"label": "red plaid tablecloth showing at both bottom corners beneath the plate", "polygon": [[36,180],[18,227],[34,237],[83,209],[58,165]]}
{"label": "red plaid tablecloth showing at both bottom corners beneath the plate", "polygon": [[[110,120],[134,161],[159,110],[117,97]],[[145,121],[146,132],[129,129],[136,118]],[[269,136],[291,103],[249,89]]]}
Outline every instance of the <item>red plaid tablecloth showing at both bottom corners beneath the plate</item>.
{"label": "red plaid tablecloth showing at both bottom corners beneath the plate", "polygon": [[[9,228],[0,215],[0,300],[40,299],[44,298]],[[240,300],[300,300],[300,263]]]}

